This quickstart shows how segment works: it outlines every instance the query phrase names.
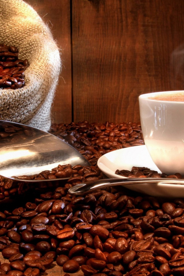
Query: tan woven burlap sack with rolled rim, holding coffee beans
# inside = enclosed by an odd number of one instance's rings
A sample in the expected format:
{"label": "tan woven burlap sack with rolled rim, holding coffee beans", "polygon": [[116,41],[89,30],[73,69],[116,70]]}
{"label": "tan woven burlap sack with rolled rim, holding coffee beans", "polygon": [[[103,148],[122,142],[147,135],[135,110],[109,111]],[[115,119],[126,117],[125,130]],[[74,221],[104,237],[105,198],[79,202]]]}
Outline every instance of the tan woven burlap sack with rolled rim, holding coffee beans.
{"label": "tan woven burlap sack with rolled rim, holding coffee beans", "polygon": [[60,53],[47,25],[22,0],[0,0],[0,43],[27,58],[26,86],[0,90],[0,119],[48,131],[51,104],[61,69]]}

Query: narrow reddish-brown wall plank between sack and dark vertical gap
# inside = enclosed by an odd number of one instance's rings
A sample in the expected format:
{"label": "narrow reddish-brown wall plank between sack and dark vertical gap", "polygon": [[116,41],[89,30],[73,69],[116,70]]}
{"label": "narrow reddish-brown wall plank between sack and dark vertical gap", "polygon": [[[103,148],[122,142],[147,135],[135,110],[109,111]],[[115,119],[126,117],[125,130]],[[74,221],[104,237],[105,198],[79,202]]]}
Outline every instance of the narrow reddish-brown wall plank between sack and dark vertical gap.
{"label": "narrow reddish-brown wall plank between sack and dark vertical gap", "polygon": [[50,27],[60,49],[62,72],[53,101],[52,121],[70,123],[72,121],[70,0],[24,1],[30,4]]}

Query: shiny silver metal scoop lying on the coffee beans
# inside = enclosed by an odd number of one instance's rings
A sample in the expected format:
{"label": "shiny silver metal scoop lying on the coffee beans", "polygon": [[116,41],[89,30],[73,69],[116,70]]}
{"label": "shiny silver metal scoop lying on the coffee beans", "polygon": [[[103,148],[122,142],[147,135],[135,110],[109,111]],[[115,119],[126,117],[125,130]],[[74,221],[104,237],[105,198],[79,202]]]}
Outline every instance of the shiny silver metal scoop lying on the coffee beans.
{"label": "shiny silver metal scoop lying on the coffee beans", "polygon": [[91,166],[82,154],[60,138],[35,127],[0,120],[0,175],[11,179],[36,175],[59,164]]}

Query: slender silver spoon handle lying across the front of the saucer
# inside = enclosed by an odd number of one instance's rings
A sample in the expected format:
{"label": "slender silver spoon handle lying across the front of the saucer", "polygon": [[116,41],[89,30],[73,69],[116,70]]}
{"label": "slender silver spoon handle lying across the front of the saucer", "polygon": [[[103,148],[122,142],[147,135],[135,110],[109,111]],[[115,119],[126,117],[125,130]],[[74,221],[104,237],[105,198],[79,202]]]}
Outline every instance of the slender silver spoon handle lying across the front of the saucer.
{"label": "slender silver spoon handle lying across the front of the saucer", "polygon": [[88,181],[78,184],[68,190],[72,195],[82,196],[86,193],[90,193],[93,190],[114,186],[114,185],[130,185],[140,183],[162,183],[162,184],[184,184],[184,179],[176,178],[112,178],[112,179],[100,179],[96,181]]}

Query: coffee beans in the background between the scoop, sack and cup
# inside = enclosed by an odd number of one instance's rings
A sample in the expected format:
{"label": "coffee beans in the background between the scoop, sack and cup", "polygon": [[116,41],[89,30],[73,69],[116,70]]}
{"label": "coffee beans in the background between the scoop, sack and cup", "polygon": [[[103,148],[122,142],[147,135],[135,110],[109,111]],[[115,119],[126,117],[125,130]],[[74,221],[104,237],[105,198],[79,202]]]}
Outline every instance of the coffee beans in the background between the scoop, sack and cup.
{"label": "coffee beans in the background between the scoop, sack and cup", "polygon": [[92,165],[113,150],[144,145],[140,122],[52,124],[50,133],[75,147]]}

